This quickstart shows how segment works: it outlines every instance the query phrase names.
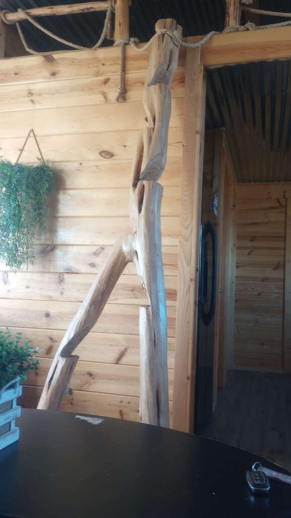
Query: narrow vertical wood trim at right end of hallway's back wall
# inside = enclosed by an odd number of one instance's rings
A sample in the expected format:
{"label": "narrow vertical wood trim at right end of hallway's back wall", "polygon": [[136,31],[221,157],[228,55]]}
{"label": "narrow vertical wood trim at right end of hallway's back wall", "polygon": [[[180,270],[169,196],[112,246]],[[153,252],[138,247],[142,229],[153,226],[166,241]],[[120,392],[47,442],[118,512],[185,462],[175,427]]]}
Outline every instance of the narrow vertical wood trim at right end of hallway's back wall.
{"label": "narrow vertical wood trim at right end of hallway's back wall", "polygon": [[283,370],[291,373],[291,191],[286,191]]}

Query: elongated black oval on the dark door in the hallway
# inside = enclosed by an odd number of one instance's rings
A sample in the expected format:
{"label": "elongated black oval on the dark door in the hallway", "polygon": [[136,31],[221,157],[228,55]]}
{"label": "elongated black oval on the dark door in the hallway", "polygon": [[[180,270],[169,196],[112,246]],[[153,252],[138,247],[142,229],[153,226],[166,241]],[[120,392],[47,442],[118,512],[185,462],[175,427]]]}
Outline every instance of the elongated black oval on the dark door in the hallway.
{"label": "elongated black oval on the dark door in the hallway", "polygon": [[202,230],[201,240],[201,312],[204,325],[213,319],[217,291],[217,238],[208,220]]}

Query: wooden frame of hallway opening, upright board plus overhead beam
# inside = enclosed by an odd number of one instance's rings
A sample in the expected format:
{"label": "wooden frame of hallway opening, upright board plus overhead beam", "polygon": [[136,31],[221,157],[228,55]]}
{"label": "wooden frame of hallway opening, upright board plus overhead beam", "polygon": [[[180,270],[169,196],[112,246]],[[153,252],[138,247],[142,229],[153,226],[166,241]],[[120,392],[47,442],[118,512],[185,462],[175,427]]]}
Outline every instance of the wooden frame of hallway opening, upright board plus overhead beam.
{"label": "wooden frame of hallway opening, upright board plus overhead beam", "polygon": [[[193,36],[188,42],[197,42]],[[204,67],[291,59],[291,27],[218,34],[186,50],[173,428],[193,431],[197,272],[206,81]]]}

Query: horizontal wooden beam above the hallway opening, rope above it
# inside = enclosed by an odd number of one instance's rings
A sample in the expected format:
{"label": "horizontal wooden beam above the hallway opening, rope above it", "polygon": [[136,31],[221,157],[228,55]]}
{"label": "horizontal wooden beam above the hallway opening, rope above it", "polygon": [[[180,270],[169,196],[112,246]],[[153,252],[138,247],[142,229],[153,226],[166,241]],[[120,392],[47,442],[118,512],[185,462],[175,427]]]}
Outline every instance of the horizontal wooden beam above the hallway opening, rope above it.
{"label": "horizontal wooden beam above the hallway opening, rope above it", "polygon": [[208,67],[280,59],[291,59],[291,26],[217,34],[202,45],[200,62]]}

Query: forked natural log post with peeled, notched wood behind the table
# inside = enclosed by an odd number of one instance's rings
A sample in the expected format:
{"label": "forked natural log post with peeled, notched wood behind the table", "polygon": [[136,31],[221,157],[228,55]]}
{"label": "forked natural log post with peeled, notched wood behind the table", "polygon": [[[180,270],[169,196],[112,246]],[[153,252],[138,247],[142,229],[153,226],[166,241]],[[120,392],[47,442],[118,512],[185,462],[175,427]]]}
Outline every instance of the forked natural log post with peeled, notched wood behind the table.
{"label": "forked natural log post with peeled, notched wood behind the table", "polygon": [[[156,32],[167,29],[181,37],[172,19],[159,20]],[[38,408],[57,410],[67,390],[78,356],[74,349],[96,324],[129,262],[134,262],[148,296],[140,308],[140,416],[145,423],[169,427],[167,379],[167,318],[161,245],[161,177],[166,163],[171,115],[170,84],[178,64],[179,47],[167,34],[152,42],[145,78],[146,127],[132,166],[130,222],[132,234],[120,239],[75,314],[49,370]]]}

